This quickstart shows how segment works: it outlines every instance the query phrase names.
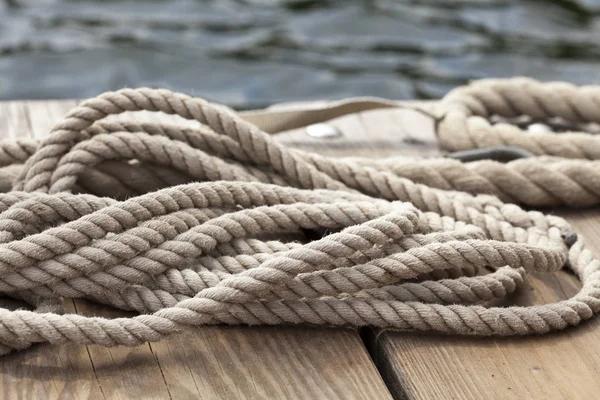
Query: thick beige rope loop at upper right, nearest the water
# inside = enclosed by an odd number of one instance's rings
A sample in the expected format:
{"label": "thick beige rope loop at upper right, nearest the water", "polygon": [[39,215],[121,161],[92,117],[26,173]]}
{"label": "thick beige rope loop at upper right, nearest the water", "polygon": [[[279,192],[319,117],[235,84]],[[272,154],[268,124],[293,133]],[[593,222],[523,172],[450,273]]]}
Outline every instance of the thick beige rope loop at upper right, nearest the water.
{"label": "thick beige rope loop at upper right, nearest the water", "polygon": [[600,86],[577,87],[530,78],[485,79],[444,97],[437,110],[442,115],[437,134],[440,145],[450,151],[516,146],[537,155],[598,160],[600,140],[590,134],[528,132],[508,123],[492,124],[490,118],[560,118],[580,127],[600,123],[599,109]]}

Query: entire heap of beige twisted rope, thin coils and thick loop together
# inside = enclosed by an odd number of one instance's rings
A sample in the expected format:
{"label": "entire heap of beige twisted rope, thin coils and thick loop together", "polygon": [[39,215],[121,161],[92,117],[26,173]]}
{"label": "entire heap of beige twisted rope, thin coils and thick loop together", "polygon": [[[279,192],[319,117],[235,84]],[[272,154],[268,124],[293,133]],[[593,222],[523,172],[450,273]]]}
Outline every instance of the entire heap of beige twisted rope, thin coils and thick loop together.
{"label": "entire heap of beige twisted rope, thin coils and thick loop together", "polygon": [[[566,84],[482,81],[432,107],[449,150],[508,144],[552,156],[508,164],[329,159],[288,149],[232,111],[179,93],[125,89],[88,100],[39,145],[0,142],[1,165],[24,163],[12,190],[0,193],[0,292],[34,308],[0,309],[0,353],[36,342],[135,346],[205,324],[461,335],[577,325],[600,310],[599,261],[563,219],[503,200],[597,204],[597,139],[488,118],[598,122],[598,96]],[[246,118],[273,133],[378,104]],[[140,110],[202,127],[107,119]],[[565,159],[576,157],[585,160]],[[565,265],[583,285],[573,298],[489,306],[527,272]],[[141,315],[61,315],[61,298]]]}

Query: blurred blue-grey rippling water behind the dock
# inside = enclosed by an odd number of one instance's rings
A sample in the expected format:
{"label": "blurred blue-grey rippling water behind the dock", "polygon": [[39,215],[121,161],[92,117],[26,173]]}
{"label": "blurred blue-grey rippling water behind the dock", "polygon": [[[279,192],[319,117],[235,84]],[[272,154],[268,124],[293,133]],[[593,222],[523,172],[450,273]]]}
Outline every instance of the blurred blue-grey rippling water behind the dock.
{"label": "blurred blue-grey rippling water behind the dock", "polygon": [[600,0],[0,0],[0,99],[167,87],[239,108],[600,81]]}

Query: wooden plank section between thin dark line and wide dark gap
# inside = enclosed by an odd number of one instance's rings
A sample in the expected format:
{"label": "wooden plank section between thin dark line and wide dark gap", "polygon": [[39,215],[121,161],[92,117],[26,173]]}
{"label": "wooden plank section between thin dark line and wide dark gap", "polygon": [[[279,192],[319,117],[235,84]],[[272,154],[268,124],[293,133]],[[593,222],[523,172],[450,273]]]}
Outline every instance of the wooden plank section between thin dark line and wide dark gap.
{"label": "wooden plank section between thin dark line and wide dark gap", "polygon": [[201,328],[152,344],[166,381],[182,395],[388,398],[362,347],[351,329],[293,327]]}

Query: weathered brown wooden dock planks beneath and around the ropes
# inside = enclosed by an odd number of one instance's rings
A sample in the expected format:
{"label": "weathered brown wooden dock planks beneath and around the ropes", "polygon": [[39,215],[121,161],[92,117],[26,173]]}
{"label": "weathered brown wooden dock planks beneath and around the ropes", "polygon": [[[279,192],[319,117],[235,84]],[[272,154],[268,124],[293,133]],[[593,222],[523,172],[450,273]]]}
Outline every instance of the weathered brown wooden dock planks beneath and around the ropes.
{"label": "weathered brown wooden dock planks beneath and around the ropes", "polygon": [[[1,137],[41,137],[76,101],[0,103]],[[435,155],[433,126],[408,110],[331,122],[342,135],[278,138],[331,156]],[[600,254],[598,210],[554,210]],[[534,277],[510,302],[571,296],[576,278]],[[5,307],[18,307],[2,300]],[[86,315],[121,316],[85,301]],[[541,337],[476,339],[385,330],[202,327],[137,348],[37,345],[0,358],[4,399],[585,399],[600,393],[600,320]]]}

